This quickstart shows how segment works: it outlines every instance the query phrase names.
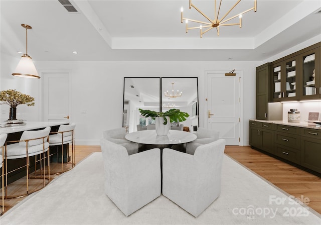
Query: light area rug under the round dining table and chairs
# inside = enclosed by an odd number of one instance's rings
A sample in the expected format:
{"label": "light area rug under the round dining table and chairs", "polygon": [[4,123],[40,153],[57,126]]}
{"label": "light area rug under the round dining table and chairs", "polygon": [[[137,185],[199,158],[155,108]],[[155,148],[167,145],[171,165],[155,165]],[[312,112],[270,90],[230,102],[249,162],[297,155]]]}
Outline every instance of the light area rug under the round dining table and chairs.
{"label": "light area rug under the round dining table and chairs", "polygon": [[161,195],[126,217],[104,194],[93,153],[14,206],[0,224],[321,224],[320,214],[224,156],[221,195],[195,218]]}

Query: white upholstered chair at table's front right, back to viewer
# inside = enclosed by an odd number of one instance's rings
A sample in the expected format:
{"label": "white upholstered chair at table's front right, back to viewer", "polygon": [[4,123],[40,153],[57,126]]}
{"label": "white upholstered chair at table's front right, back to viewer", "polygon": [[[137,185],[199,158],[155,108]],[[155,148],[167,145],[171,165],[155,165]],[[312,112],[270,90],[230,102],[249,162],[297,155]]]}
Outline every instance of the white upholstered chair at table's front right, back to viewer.
{"label": "white upholstered chair at table's front right, back to viewer", "polygon": [[163,195],[199,216],[221,193],[225,140],[199,146],[194,155],[163,149]]}

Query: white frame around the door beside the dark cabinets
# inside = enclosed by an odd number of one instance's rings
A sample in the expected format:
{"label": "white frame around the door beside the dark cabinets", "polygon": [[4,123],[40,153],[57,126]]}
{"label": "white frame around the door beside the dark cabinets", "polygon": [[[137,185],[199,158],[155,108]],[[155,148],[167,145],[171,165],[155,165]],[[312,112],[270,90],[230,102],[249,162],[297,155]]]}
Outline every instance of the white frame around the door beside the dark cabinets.
{"label": "white frame around the door beside the dark cabinets", "polygon": [[[227,70],[205,70],[204,71],[204,110],[203,110],[203,117],[204,117],[204,127],[207,128],[207,112],[208,112],[208,104],[207,104],[207,98],[208,98],[208,90],[207,90],[207,83],[208,83],[208,74],[215,74],[215,73],[227,73],[226,71],[229,71],[229,69]],[[239,98],[240,98],[240,104],[239,104],[239,111],[240,111],[240,126],[239,126],[239,146],[243,146],[243,71],[242,70],[235,70],[234,73],[238,73],[239,74]]]}

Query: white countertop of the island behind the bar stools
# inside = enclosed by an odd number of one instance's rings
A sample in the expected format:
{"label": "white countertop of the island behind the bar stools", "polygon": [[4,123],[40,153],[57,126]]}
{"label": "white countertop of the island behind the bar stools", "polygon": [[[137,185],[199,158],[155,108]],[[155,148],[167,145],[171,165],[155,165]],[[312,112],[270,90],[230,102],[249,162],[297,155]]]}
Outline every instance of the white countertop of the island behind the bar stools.
{"label": "white countertop of the island behind the bar stools", "polygon": [[62,124],[68,124],[68,121],[61,121],[61,122],[25,122],[26,125],[23,126],[15,126],[15,127],[5,127],[0,128],[0,134],[11,134],[21,131],[28,131],[28,130],[34,130],[39,128],[45,128],[45,127],[52,127],[52,126],[58,126]]}

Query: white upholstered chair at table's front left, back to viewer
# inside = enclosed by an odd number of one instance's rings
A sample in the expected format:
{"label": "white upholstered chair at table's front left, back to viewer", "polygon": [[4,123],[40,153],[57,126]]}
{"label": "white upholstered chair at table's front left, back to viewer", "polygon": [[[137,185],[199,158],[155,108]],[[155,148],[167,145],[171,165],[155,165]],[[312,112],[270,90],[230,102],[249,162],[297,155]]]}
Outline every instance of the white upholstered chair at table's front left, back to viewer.
{"label": "white upholstered chair at table's front left, back to viewer", "polygon": [[161,195],[161,150],[128,155],[125,147],[101,140],[105,194],[126,215]]}

